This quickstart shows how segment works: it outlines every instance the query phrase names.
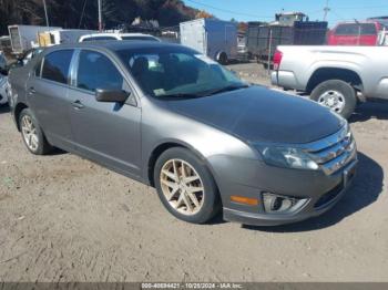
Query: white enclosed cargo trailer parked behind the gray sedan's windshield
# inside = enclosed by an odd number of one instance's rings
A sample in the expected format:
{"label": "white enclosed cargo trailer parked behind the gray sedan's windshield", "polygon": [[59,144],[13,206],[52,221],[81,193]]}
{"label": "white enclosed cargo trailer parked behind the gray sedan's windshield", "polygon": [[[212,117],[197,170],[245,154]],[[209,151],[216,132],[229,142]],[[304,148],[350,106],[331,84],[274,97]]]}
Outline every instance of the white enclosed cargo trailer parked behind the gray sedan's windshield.
{"label": "white enclosed cargo trailer parked behind the gray sedan's windshield", "polygon": [[217,19],[182,22],[181,43],[219,63],[237,59],[237,24]]}

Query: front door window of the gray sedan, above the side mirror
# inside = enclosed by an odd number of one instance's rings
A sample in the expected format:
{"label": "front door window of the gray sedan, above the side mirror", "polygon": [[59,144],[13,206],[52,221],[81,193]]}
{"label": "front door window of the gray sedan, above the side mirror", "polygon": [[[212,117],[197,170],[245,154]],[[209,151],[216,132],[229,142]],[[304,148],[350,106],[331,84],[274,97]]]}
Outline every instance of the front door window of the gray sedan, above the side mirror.
{"label": "front door window of the gray sedan, above the side mirror", "polygon": [[124,77],[104,54],[83,50],[80,53],[76,87],[94,92],[96,89],[129,91]]}

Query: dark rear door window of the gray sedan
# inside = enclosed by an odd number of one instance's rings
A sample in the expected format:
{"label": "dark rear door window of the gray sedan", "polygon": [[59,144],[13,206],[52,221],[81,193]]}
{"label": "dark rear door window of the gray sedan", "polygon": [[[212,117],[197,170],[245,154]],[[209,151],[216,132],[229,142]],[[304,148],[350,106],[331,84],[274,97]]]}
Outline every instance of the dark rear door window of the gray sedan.
{"label": "dark rear door window of the gray sedan", "polygon": [[42,79],[68,84],[73,50],[54,51],[44,56]]}

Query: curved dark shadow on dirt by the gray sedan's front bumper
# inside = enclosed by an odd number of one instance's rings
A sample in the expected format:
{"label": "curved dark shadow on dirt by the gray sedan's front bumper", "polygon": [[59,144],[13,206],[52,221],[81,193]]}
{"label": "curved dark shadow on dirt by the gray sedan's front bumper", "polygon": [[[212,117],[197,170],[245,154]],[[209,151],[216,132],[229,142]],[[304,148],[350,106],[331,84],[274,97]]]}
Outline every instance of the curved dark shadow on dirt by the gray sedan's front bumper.
{"label": "curved dark shadow on dirt by the gray sedan's front bumper", "polygon": [[254,227],[244,226],[249,230],[259,230],[267,232],[300,232],[313,231],[327,228],[341,221],[344,218],[361,210],[375,203],[382,191],[384,170],[371,158],[363,153],[358,154],[358,172],[354,183],[344,198],[319,217],[315,217],[298,224],[277,226],[277,227]]}

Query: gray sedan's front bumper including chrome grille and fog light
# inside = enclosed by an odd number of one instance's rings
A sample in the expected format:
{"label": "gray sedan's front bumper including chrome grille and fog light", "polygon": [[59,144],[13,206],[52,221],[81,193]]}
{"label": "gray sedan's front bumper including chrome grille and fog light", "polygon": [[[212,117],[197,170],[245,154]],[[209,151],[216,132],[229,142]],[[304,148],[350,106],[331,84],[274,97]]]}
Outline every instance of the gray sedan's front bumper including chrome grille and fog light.
{"label": "gray sedan's front bumper including chrome grille and fog light", "polygon": [[[348,190],[358,163],[348,126],[299,146],[319,165],[318,170],[280,168],[259,159],[212,156],[210,162],[221,193],[224,219],[276,226],[319,216],[337,204]],[[268,209],[268,196],[287,199],[287,209],[273,210],[274,204]],[[242,200],[238,197],[255,201],[251,205],[233,201]]]}

